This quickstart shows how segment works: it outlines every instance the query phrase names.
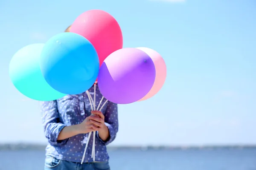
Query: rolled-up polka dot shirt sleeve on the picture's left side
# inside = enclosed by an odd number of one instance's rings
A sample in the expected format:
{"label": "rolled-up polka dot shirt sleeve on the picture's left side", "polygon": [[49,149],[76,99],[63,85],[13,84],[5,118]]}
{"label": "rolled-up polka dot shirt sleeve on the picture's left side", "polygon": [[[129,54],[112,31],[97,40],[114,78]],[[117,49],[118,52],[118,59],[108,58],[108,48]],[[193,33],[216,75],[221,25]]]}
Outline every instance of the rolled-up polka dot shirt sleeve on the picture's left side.
{"label": "rolled-up polka dot shirt sleeve on the picture's left side", "polygon": [[41,102],[42,122],[44,126],[44,135],[52,146],[65,144],[68,139],[57,140],[61,130],[65,127],[60,122],[57,101]]}

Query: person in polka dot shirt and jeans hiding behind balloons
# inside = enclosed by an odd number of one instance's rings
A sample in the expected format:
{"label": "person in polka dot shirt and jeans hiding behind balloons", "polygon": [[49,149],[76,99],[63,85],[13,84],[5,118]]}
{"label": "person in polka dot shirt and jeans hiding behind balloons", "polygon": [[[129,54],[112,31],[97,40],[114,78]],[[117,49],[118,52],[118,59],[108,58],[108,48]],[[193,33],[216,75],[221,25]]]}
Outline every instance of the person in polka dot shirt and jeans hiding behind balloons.
{"label": "person in polka dot shirt and jeans hiding behind balloons", "polygon": [[[69,29],[70,26],[65,32]],[[88,91],[94,95],[94,87]],[[96,108],[101,99],[96,85]],[[117,104],[108,101],[101,111],[91,110],[86,92],[41,102],[44,134],[49,142],[44,170],[110,170],[106,145],[113,142],[118,131]],[[95,161],[92,158],[93,137],[88,141],[88,133],[92,131],[96,131]]]}

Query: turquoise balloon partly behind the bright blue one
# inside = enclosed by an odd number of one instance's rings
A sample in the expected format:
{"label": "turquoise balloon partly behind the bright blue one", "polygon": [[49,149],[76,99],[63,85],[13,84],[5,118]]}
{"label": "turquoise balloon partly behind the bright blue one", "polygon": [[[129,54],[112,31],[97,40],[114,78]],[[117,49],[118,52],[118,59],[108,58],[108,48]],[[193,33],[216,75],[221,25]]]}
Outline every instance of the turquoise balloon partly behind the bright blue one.
{"label": "turquoise balloon partly behind the bright blue one", "polygon": [[59,99],[66,94],[54,90],[45,81],[40,70],[40,55],[44,44],[31,44],[21,48],[9,64],[13,85],[23,95],[40,101]]}

